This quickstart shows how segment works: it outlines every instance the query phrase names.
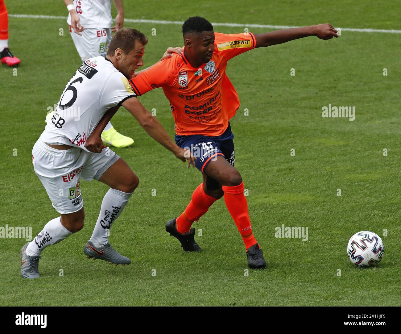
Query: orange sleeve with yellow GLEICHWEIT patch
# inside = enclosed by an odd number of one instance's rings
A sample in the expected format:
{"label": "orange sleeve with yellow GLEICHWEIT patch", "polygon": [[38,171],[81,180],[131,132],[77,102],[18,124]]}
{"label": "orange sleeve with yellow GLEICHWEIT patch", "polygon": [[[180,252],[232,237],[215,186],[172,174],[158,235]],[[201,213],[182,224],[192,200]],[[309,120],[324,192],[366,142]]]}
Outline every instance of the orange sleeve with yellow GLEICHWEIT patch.
{"label": "orange sleeve with yellow GLEICHWEIT patch", "polygon": [[255,49],[256,39],[253,33],[221,34],[215,33],[217,51],[227,60],[246,51]]}

